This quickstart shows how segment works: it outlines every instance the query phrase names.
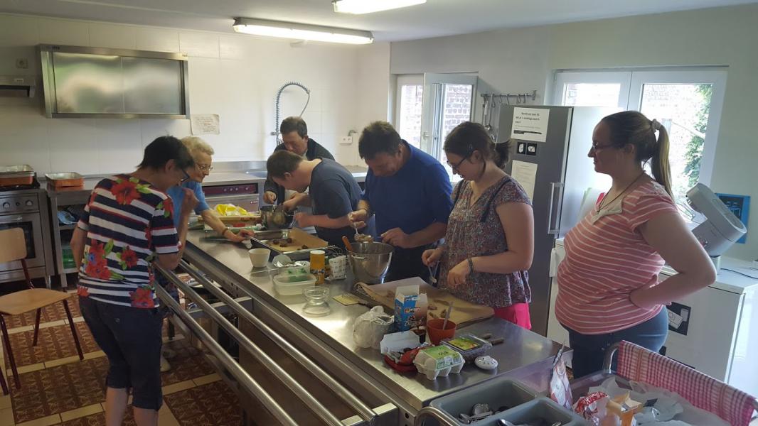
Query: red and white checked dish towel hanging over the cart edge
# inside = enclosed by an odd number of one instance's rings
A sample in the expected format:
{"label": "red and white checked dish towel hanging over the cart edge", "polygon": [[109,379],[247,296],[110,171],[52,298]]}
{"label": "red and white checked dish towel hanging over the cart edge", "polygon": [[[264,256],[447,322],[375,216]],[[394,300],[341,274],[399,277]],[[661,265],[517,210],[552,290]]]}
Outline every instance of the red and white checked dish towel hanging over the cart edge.
{"label": "red and white checked dish towel hanging over the cart edge", "polygon": [[676,392],[693,406],[712,412],[733,426],[748,426],[756,409],[754,396],[627,341],[619,345],[618,374]]}

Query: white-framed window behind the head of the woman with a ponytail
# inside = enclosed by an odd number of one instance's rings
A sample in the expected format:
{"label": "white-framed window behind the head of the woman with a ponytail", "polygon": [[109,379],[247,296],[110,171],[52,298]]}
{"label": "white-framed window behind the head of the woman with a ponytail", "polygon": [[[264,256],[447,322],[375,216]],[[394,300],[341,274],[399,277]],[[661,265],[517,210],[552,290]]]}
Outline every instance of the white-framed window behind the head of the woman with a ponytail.
{"label": "white-framed window behind the head of the woman with a ponytail", "polygon": [[697,182],[710,184],[726,70],[559,71],[554,103],[638,110],[669,132],[677,200]]}

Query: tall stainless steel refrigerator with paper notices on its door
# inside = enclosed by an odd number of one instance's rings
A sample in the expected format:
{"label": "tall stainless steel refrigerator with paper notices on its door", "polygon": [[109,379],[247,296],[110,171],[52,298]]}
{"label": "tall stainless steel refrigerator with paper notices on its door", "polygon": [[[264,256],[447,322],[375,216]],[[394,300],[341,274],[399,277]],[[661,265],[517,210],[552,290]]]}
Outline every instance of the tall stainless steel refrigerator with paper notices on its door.
{"label": "tall stainless steel refrigerator with paper notices on its door", "polygon": [[[511,139],[506,166],[531,193],[534,260],[529,269],[532,331],[547,335],[550,309],[550,252],[580,219],[587,188],[609,184],[595,173],[587,152],[594,126],[618,108],[503,105],[498,141]],[[533,189],[532,189],[533,188]]]}

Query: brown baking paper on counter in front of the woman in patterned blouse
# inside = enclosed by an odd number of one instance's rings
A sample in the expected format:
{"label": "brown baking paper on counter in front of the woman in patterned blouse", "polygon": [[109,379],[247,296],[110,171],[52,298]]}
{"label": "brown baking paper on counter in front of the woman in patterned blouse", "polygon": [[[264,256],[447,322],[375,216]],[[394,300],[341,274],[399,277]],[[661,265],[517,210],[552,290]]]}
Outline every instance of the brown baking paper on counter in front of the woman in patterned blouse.
{"label": "brown baking paper on counter in front of the woman in patterned blouse", "polygon": [[368,296],[390,309],[395,309],[396,288],[402,285],[416,284],[419,286],[419,293],[425,293],[429,300],[427,311],[428,318],[444,317],[442,313],[448,306],[450,306],[451,302],[455,303],[455,306],[453,306],[453,313],[450,315],[450,320],[455,322],[459,327],[468,322],[490,318],[490,316],[493,316],[495,313],[490,306],[466,302],[465,300],[453,296],[453,294],[449,294],[447,291],[428,285],[428,283],[421,278],[408,278],[376,285],[359,283]]}

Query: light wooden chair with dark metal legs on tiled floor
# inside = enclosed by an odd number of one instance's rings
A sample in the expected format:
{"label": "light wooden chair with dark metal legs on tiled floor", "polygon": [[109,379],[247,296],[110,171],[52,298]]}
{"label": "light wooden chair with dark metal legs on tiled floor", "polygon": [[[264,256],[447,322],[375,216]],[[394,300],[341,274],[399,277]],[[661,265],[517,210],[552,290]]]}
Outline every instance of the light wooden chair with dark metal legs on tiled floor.
{"label": "light wooden chair with dark metal legs on tiled floor", "polygon": [[[74,325],[74,319],[71,318],[71,311],[68,309],[67,299],[70,294],[67,294],[64,291],[49,290],[47,288],[34,288],[32,280],[29,278],[29,269],[27,269],[27,261],[24,259],[25,257],[27,257],[27,242],[24,238],[23,230],[20,228],[11,228],[0,231],[0,263],[20,260],[23,268],[23,275],[27,278],[27,285],[29,286],[27,290],[16,291],[0,297],[0,328],[2,328],[2,339],[5,346],[5,353],[8,353],[8,361],[11,362],[11,370],[13,371],[13,378],[17,389],[21,388],[21,382],[18,378],[13,350],[11,350],[11,339],[8,337],[8,327],[5,325],[6,315],[21,315],[36,309],[37,316],[34,322],[34,340],[32,343],[32,346],[36,346],[37,336],[39,334],[39,316],[42,314],[42,308],[52,305],[53,303],[62,302],[64,309],[66,309],[68,325],[71,328],[71,334],[74,336],[74,344],[77,346],[79,359],[84,359],[82,347],[79,344],[79,337],[77,336],[77,328]],[[0,372],[0,385],[2,385],[3,393],[8,394],[8,384],[5,383],[5,377],[2,375],[2,372]]]}

